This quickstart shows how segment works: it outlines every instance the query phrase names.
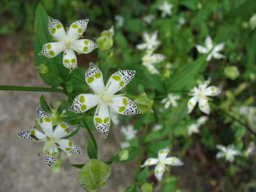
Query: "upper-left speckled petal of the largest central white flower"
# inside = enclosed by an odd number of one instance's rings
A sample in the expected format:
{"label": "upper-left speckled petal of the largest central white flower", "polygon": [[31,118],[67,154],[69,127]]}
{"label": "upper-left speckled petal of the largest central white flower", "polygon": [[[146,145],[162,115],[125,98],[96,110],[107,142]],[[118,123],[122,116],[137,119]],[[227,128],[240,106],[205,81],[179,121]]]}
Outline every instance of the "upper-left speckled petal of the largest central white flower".
{"label": "upper-left speckled petal of the largest central white flower", "polygon": [[94,93],[101,94],[105,91],[102,72],[92,62],[90,62],[90,67],[85,72],[85,81]]}

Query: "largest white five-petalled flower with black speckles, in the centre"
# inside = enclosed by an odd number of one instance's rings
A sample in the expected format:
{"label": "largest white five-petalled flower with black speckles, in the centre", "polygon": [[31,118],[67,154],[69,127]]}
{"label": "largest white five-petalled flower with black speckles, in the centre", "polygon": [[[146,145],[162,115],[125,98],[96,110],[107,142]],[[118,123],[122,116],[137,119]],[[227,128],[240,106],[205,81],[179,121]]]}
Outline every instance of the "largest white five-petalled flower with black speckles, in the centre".
{"label": "largest white five-petalled flower with black speckles, in the centre", "polygon": [[134,115],[140,113],[135,103],[123,97],[125,94],[114,95],[123,89],[133,78],[135,71],[121,70],[110,76],[104,86],[102,72],[93,63],[86,70],[85,81],[93,91],[92,94],[79,94],[73,101],[69,110],[75,113],[83,113],[94,106],[97,106],[93,120],[96,129],[106,138],[110,127],[109,109],[116,115]]}

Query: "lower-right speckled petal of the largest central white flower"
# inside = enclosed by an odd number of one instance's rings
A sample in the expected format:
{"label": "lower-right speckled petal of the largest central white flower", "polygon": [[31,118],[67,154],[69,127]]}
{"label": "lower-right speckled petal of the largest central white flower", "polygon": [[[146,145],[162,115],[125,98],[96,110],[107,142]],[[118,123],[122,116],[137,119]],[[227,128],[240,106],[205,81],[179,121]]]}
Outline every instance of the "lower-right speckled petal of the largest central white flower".
{"label": "lower-right speckled petal of the largest central white flower", "polygon": [[118,114],[135,115],[140,113],[136,104],[127,97],[116,96],[116,97],[112,97],[111,100],[113,101],[113,103],[109,103],[109,105]]}

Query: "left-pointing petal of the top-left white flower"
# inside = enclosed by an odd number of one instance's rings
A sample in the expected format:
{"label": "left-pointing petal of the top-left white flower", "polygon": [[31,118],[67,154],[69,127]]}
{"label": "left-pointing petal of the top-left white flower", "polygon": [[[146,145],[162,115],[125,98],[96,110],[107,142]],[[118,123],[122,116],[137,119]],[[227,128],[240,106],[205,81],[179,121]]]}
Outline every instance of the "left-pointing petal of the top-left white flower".
{"label": "left-pointing petal of the top-left white flower", "polygon": [[46,43],[43,45],[43,49],[38,55],[44,55],[47,58],[53,58],[60,54],[64,49],[64,45],[61,42]]}

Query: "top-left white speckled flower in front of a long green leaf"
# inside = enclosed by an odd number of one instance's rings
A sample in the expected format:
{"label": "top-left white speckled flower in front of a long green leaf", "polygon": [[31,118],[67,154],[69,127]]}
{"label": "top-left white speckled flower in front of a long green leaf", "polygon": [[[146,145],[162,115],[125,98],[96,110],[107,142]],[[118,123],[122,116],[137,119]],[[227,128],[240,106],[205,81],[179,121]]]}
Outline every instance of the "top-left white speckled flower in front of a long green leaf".
{"label": "top-left white speckled flower in front of a long green leaf", "polygon": [[71,71],[77,67],[76,51],[78,54],[90,53],[93,49],[99,47],[90,39],[79,39],[83,37],[89,19],[73,22],[67,34],[61,22],[49,17],[48,29],[53,39],[58,42],[46,43],[38,55],[44,55],[47,58],[53,58],[63,51],[63,65]]}

